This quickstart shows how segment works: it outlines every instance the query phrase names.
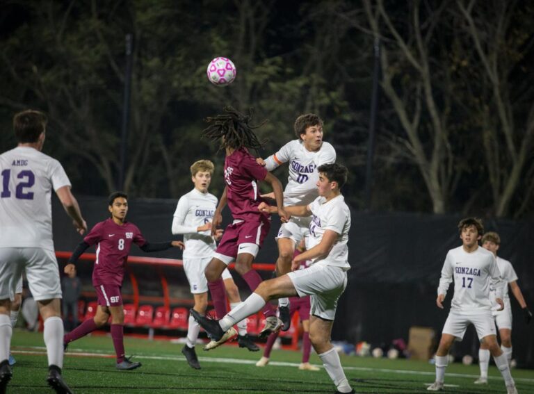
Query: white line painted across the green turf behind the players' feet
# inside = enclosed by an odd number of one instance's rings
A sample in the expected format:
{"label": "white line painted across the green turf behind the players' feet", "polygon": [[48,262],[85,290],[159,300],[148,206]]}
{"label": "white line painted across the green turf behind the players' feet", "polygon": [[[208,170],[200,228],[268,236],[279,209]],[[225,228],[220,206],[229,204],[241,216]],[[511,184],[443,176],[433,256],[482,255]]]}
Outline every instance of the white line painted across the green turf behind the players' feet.
{"label": "white line painted across the green turf behind the players' feet", "polygon": [[[20,346],[24,349],[30,349],[30,350],[12,350],[13,354],[46,354],[47,348],[43,346]],[[102,358],[113,358],[115,357],[115,354],[110,354],[108,352],[84,352],[83,349],[71,349],[69,347],[69,350],[67,353],[65,353],[65,356],[86,356],[86,357],[102,357]],[[143,355],[143,354],[136,354],[136,359],[147,359],[147,360],[170,360],[170,361],[186,361],[184,356],[149,356],[149,355]],[[199,360],[204,363],[226,363],[226,364],[245,364],[245,365],[254,365],[257,361],[254,360],[244,360],[244,359],[225,359],[221,357],[199,357]],[[269,361],[269,366],[277,366],[277,367],[296,367],[300,363],[287,363],[283,361]],[[316,365],[319,368],[323,368],[323,366]],[[389,372],[389,373],[397,373],[400,375],[426,375],[426,376],[435,376],[435,372],[426,372],[426,371],[414,371],[414,370],[393,370],[393,369],[387,369],[387,368],[366,368],[366,367],[343,367],[344,370],[349,371],[362,371],[362,372]],[[468,374],[462,374],[462,373],[446,373],[447,376],[452,377],[464,377],[466,379],[477,379],[478,375],[468,375]],[[488,379],[491,380],[500,380],[502,381],[502,377],[495,377],[495,376],[489,376]],[[527,377],[514,377],[515,381],[523,381],[525,383],[534,383],[534,379],[527,378]]]}

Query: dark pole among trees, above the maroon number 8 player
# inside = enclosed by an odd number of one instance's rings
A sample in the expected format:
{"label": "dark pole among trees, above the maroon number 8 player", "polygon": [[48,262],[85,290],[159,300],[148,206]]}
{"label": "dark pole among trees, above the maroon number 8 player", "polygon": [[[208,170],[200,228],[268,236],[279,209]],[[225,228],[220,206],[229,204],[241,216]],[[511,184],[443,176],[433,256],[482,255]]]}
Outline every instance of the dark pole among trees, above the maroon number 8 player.
{"label": "dark pole among trees, above the maroon number 8 player", "polygon": [[130,92],[131,92],[131,65],[133,52],[133,36],[126,35],[126,72],[124,74],[124,101],[122,103],[122,130],[120,137],[120,167],[117,181],[117,190],[124,190],[124,177],[128,151],[128,127],[130,120]]}

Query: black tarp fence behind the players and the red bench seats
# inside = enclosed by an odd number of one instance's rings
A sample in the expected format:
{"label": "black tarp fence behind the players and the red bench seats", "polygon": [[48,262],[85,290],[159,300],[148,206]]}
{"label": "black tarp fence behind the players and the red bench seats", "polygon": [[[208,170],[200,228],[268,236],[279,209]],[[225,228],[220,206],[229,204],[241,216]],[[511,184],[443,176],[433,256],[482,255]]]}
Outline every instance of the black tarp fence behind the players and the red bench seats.
{"label": "black tarp fence behind the players and the red bench seats", "polygon": [[[106,197],[78,197],[88,226],[108,217]],[[177,201],[171,199],[130,199],[128,219],[147,240],[172,238],[170,227]],[[54,198],[54,242],[56,250],[72,251],[79,237]],[[357,343],[366,340],[380,345],[395,338],[407,340],[412,326],[432,327],[439,333],[450,306],[453,285],[449,288],[444,311],[435,299],[439,275],[448,249],[460,245],[458,215],[418,213],[361,213],[352,211],[350,229],[348,286],[340,299],[332,338]],[[223,224],[231,220],[226,209]],[[274,263],[277,258],[275,233],[280,220],[273,216],[270,236],[257,262]],[[485,220],[486,231],[497,231],[502,245],[499,255],[510,260],[519,277],[526,302],[534,309],[534,265],[532,244],[534,222]],[[180,239],[181,237],[178,237]],[[145,255],[137,247],[132,255]],[[172,249],[151,254],[181,258]],[[90,280],[90,279],[88,279]],[[241,284],[238,285],[241,286]],[[248,294],[248,289],[243,289]],[[534,368],[534,322],[526,325],[519,305],[512,297],[514,358],[519,366]],[[456,354],[478,356],[478,339],[469,329],[464,341],[455,345]]]}

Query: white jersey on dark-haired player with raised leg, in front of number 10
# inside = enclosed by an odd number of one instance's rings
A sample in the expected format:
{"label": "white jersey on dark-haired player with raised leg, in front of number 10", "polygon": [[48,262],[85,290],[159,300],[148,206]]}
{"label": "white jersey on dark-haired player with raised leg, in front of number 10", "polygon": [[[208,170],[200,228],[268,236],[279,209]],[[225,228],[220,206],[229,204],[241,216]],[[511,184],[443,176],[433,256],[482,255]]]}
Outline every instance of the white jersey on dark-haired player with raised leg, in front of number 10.
{"label": "white jersey on dark-haired player with raised leg, in front of number 10", "polygon": [[348,263],[348,230],[350,229],[350,210],[345,204],[345,197],[339,195],[328,202],[325,197],[317,197],[309,210],[312,211],[312,222],[309,224],[309,248],[318,245],[323,239],[325,230],[339,234],[330,253],[324,257],[316,257],[312,264],[323,263],[336,267],[350,268]]}

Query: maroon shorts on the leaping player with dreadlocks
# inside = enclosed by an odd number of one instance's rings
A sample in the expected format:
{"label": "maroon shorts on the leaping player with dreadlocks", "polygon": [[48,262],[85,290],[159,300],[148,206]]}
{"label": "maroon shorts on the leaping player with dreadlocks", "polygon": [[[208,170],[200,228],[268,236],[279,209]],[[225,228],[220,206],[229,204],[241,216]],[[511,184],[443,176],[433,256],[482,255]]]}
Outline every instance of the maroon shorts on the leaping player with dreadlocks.
{"label": "maroon shorts on the leaping player with dreadlocks", "polygon": [[261,247],[270,229],[270,219],[259,217],[258,221],[243,221],[229,224],[216,253],[236,258],[239,245],[252,243]]}

